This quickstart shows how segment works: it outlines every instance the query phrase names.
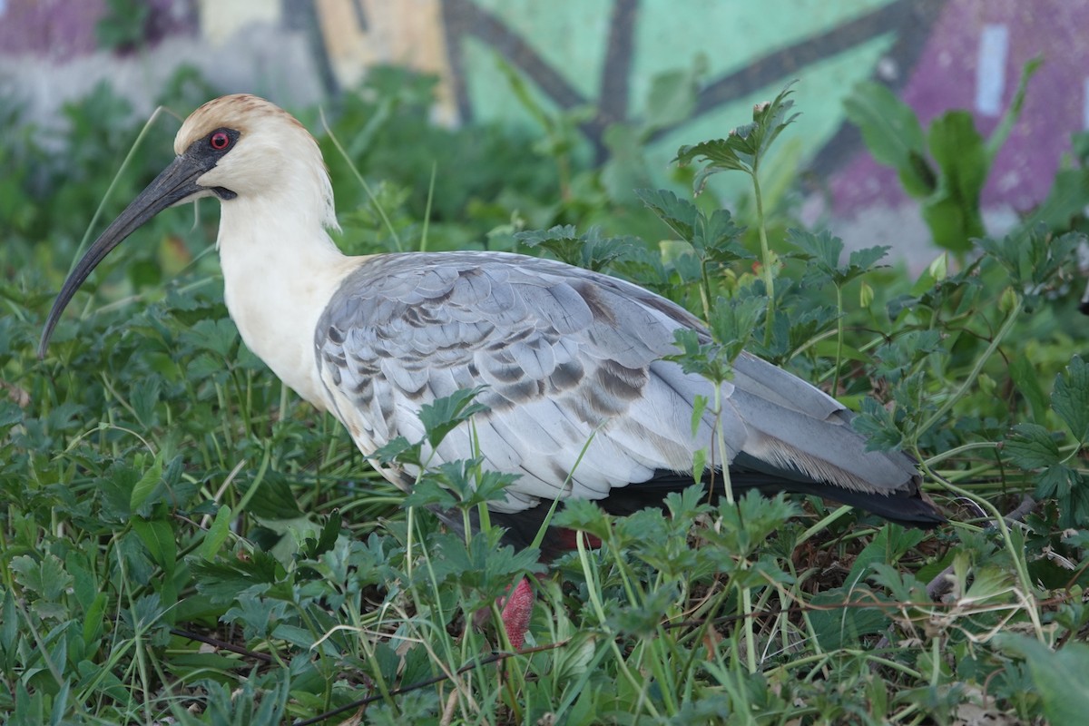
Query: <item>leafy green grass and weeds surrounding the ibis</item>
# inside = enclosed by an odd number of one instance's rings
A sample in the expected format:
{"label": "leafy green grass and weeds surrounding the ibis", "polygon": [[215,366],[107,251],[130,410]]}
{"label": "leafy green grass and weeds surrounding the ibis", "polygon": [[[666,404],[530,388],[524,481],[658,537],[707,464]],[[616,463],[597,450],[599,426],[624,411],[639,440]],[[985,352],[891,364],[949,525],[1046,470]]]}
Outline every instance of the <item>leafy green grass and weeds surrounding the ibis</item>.
{"label": "leafy green grass and weeds surrounding the ibis", "polygon": [[[227,317],[211,205],[127,242],[38,360],[99,205],[119,211],[169,155],[157,124],[102,201],[139,131],[103,87],[69,109],[60,145],[5,112],[21,130],[0,150],[8,723],[1079,723],[1077,236],[1017,230],[917,278],[876,250],[844,263],[831,235],[784,232],[788,198],[743,220],[710,194],[616,201],[554,139],[538,156],[501,130],[431,128],[428,87],[397,78],[347,99],[320,139],[352,251],[419,248],[426,229],[428,249],[536,249],[668,294],[717,337],[680,341],[682,362],[720,379],[746,345],[834,389],[879,445],[919,458],[951,524],[904,530],[816,500],[711,507],[695,491],[624,519],[573,503],[555,521],[603,544],[547,570],[491,528],[444,532],[424,504],[468,514],[499,482],[468,462],[406,499],[286,392]],[[211,95],[185,74],[168,94]],[[726,155],[715,144],[696,148]],[[1004,521],[1026,493],[1039,504]],[[495,599],[530,571],[546,574],[512,653]]]}

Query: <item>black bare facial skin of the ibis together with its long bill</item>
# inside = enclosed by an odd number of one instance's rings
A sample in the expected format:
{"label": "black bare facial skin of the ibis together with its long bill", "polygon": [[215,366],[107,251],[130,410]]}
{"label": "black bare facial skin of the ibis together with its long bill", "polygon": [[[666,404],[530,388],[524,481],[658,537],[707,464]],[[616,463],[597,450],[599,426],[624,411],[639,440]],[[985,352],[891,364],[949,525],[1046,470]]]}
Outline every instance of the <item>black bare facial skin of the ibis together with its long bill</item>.
{"label": "black bare facial skin of the ibis together with its long bill", "polygon": [[[222,136],[217,136],[218,134],[227,135],[228,143],[225,145],[222,143]],[[46,319],[45,330],[41,332],[41,342],[38,344],[39,358],[46,357],[49,337],[52,335],[53,328],[57,327],[57,321],[60,320],[61,313],[64,312],[64,308],[71,302],[72,296],[75,295],[75,291],[79,288],[79,285],[83,284],[84,280],[87,279],[98,263],[106,259],[106,256],[114,247],[124,242],[125,237],[167,207],[184,201],[188,197],[201,192],[210,190],[223,200],[233,199],[237,196],[234,192],[221,186],[212,187],[211,189],[200,186],[196,183],[196,180],[213,169],[219,163],[219,160],[234,148],[241,135],[233,128],[217,128],[204,138],[193,141],[189,148],[185,149],[184,153],[176,157],[169,167],[163,169],[162,173],[156,176],[155,181],[148,184],[132,200],[132,204],[125,207],[125,210],[106,227],[106,231],[87,249],[87,254],[83,256],[83,259],[79,260],[71,274],[69,274],[68,280],[64,281],[64,285],[61,287],[61,292],[57,295],[53,307],[49,311],[49,317]],[[220,145],[221,148],[213,146],[213,137],[216,137],[216,144]]]}

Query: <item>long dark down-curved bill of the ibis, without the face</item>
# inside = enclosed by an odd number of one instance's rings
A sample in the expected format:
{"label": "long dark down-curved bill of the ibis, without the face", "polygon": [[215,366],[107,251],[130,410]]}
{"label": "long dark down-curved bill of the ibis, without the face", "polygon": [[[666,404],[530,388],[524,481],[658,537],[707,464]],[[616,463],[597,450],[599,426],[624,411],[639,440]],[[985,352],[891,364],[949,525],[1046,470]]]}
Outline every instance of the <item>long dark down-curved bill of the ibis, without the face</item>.
{"label": "long dark down-curved bill of the ibis, without the face", "polygon": [[38,343],[38,358],[46,357],[46,348],[49,347],[49,337],[53,334],[53,328],[60,320],[64,308],[72,300],[75,291],[90,274],[90,272],[106,259],[110,251],[124,242],[125,237],[135,232],[149,219],[161,212],[167,207],[184,201],[189,197],[195,197],[209,189],[196,183],[206,171],[208,165],[201,160],[193,158],[186,153],[174,159],[174,161],[162,170],[162,173],[155,177],[147,187],[139,193],[132,204],[110,223],[101,236],[95,241],[87,254],[75,266],[64,281],[64,286],[57,295],[53,307],[46,319],[45,330],[41,331],[41,342]]}

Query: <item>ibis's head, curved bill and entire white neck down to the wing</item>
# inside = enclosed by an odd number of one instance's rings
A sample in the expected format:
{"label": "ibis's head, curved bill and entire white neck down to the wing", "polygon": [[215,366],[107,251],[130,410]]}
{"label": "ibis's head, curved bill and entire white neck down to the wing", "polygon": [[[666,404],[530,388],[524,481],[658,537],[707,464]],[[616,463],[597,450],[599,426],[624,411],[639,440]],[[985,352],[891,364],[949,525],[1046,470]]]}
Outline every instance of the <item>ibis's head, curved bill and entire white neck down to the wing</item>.
{"label": "ibis's head, curved bill and entire white neck down to the wing", "polygon": [[163,209],[216,197],[222,202],[217,245],[230,281],[225,298],[243,340],[291,387],[323,408],[308,334],[299,332],[293,341],[270,330],[274,322],[281,333],[284,325],[313,331],[342,270],[354,264],[326,233],[337,227],[337,218],[317,143],[286,111],[238,94],[194,111],[174,138],[174,152],[64,281],[46,320],[39,357],[72,296],[110,251]]}

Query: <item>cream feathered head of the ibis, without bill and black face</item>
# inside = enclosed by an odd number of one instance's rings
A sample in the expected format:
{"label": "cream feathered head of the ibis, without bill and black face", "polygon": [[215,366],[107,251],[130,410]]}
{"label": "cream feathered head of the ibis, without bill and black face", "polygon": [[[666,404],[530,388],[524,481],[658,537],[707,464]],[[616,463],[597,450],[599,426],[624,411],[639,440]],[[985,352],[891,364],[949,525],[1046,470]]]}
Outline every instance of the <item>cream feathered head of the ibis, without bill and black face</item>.
{"label": "cream feathered head of the ibis, without bill and black face", "polygon": [[[215,167],[196,180],[208,189],[225,189],[237,200],[276,200],[304,213],[317,213],[323,226],[335,227],[333,193],[317,141],[293,115],[248,94],[222,96],[194,111],[174,137],[183,156],[230,134],[230,148]],[[222,136],[218,137],[222,140]],[[225,205],[234,197],[213,192]]]}

